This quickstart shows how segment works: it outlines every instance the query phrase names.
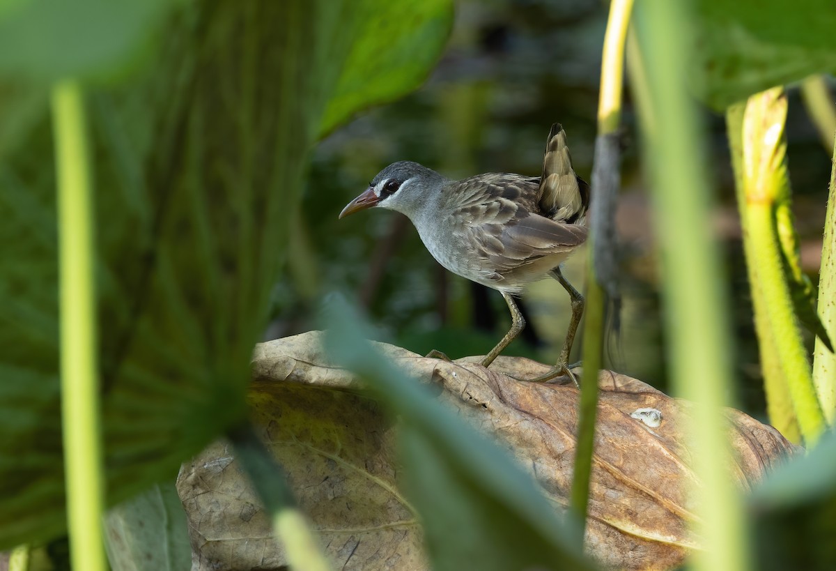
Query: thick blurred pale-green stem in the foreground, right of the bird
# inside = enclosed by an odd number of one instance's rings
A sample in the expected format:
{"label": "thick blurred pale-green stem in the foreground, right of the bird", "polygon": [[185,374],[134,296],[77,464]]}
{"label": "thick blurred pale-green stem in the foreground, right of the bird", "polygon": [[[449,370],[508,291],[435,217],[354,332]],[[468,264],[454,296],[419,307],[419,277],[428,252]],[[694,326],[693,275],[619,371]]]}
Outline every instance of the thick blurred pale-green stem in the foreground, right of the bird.
{"label": "thick blurred pale-green stem in the foreground, right of the bird", "polygon": [[746,519],[728,471],[733,461],[722,410],[732,386],[726,278],[711,236],[701,130],[686,94],[687,6],[669,0],[636,6],[651,97],[639,109],[652,109],[655,119],[653,131],[644,133],[644,156],[661,249],[670,376],[675,393],[694,402],[688,434],[701,486],[691,491],[691,505],[700,516],[695,525],[703,549],[693,553],[691,568],[745,571],[751,568]]}

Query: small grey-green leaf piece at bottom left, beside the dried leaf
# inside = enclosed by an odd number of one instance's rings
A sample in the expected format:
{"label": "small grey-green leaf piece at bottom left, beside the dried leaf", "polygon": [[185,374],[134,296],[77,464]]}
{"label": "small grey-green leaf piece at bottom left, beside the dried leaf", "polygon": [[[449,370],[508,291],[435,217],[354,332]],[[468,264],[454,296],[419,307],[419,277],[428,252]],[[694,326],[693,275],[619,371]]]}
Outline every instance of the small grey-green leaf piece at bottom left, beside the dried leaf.
{"label": "small grey-green leaf piece at bottom left, beside the dried leaf", "polygon": [[182,571],[191,566],[186,512],[173,481],[113,507],[104,526],[114,571]]}

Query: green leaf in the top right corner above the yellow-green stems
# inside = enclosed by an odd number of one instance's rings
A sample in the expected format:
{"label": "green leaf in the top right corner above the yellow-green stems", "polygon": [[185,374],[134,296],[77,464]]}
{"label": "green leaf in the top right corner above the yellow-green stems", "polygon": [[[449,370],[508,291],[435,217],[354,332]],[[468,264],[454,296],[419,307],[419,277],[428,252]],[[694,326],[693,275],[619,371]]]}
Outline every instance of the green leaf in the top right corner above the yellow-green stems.
{"label": "green leaf in the top right corner above the yellow-green stems", "polygon": [[691,89],[716,111],[774,85],[836,71],[831,0],[697,0]]}

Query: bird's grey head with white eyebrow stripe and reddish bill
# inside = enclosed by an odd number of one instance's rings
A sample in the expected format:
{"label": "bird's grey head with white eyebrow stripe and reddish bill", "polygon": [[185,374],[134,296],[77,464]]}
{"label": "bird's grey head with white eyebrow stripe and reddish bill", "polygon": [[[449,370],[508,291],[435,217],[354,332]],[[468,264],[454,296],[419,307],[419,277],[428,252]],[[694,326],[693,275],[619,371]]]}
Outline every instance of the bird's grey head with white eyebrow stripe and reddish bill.
{"label": "bird's grey head with white eyebrow stripe and reddish bill", "polygon": [[438,172],[417,162],[393,162],[378,172],[364,193],[343,208],[339,218],[373,206],[412,218],[428,203],[436,201],[444,183],[444,177]]}

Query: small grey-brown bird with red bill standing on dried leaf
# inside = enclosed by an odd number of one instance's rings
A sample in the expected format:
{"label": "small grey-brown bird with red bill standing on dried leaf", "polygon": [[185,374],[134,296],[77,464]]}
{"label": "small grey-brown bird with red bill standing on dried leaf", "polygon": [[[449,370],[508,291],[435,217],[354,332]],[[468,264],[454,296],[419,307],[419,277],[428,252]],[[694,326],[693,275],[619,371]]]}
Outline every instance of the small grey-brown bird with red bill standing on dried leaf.
{"label": "small grey-brown bird with red bill standing on dried leaf", "polygon": [[[572,316],[558,363],[548,380],[569,371],[568,358],[584,313],[584,296],[563,277],[560,265],[587,239],[589,184],[573,170],[566,131],[548,133],[539,177],[489,172],[451,180],[417,162],[399,161],[380,171],[339,219],[367,208],[405,214],[421,241],[446,270],[499,291],[511,312],[511,328],[485,355],[487,368],[525,327],[515,296],[553,277],[568,292]],[[443,353],[431,356],[446,358]]]}

